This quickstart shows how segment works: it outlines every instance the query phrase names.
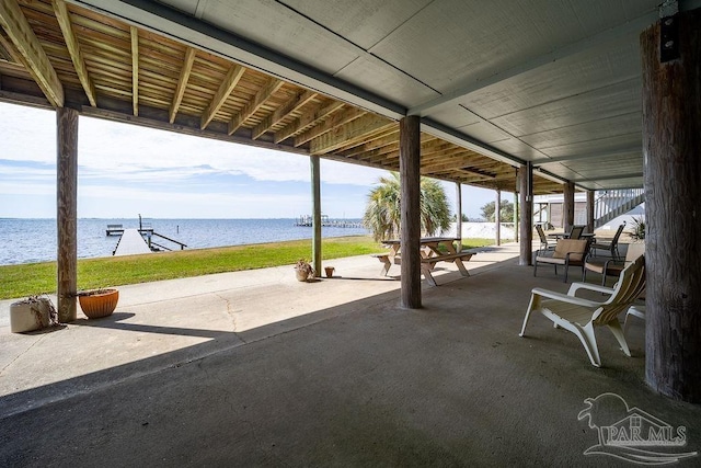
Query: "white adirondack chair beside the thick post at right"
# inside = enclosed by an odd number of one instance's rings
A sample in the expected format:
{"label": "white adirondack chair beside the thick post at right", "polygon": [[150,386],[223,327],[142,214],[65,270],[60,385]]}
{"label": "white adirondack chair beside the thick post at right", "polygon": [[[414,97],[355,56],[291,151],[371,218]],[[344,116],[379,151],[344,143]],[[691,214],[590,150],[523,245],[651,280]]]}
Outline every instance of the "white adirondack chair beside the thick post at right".
{"label": "white adirondack chair beside the thick post at right", "polygon": [[[609,298],[599,303],[581,297],[575,297],[578,289],[590,289],[610,294]],[[627,356],[631,352],[625,342],[625,335],[621,329],[618,316],[628,310],[633,300],[645,289],[645,256],[641,255],[633,263],[628,265],[613,288],[601,287],[588,283],[573,283],[567,294],[553,290],[533,288],[531,290],[530,304],[524,318],[524,327],[519,333],[526,334],[526,326],[531,311],[541,312],[554,322],[555,328],[562,327],[571,331],[582,342],[589,356],[589,361],[596,367],[601,366],[599,349],[596,344],[594,328],[606,326],[618,340],[623,353]]]}

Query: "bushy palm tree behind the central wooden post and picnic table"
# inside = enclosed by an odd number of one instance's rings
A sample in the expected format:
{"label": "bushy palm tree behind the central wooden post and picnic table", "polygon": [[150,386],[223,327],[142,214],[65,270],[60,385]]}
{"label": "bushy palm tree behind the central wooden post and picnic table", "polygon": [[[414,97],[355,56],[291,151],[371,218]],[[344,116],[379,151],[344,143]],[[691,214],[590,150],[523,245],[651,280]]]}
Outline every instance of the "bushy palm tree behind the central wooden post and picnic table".
{"label": "bushy palm tree behind the central wooden post and picnic table", "polygon": [[[380,178],[379,185],[368,194],[363,222],[375,240],[395,239],[400,233],[400,176]],[[421,178],[421,230],[434,236],[450,228],[450,208],[443,185],[434,179]]]}

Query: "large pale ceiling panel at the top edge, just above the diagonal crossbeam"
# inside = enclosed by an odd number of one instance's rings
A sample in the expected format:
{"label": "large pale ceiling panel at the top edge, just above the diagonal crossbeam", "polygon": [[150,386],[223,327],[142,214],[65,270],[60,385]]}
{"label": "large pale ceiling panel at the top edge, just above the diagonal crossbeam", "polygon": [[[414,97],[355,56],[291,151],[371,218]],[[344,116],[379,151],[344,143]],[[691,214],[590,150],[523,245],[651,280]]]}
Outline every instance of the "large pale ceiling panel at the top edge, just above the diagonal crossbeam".
{"label": "large pale ceiling panel at the top edge, just above the diagonal crossbeam", "polygon": [[[654,10],[654,1],[439,0],[402,24],[370,52],[438,91],[470,77],[497,72],[529,57],[576,43],[628,18]],[[421,57],[421,59],[416,59]]]}

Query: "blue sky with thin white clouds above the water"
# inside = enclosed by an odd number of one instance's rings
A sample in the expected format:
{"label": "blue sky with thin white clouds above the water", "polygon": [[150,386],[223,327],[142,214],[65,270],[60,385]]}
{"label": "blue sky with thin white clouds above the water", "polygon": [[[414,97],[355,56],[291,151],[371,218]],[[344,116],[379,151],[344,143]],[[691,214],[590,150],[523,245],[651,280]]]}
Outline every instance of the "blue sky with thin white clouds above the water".
{"label": "blue sky with thin white clouds above the water", "polygon": [[[56,114],[0,103],[0,217],[56,217]],[[383,170],[321,160],[322,212],[360,218]],[[81,218],[295,218],[311,213],[309,158],[80,117]],[[446,183],[455,205],[455,184]],[[462,187],[470,218],[495,192]],[[513,201],[513,194],[503,194]]]}

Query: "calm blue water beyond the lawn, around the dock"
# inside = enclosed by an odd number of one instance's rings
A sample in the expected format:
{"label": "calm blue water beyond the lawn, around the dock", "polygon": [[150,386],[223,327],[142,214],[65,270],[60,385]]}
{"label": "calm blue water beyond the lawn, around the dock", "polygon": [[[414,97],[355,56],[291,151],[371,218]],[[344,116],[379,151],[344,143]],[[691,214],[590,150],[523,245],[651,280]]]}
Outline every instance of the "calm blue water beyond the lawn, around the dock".
{"label": "calm blue water beyond the lawn, around the dock", "polygon": [[[108,224],[139,227],[138,219],[79,219],[78,258],[112,255],[119,236],[105,236]],[[143,224],[187,244],[187,249],[311,239],[312,235],[311,228],[295,226],[295,219],[145,219]],[[366,233],[364,228],[322,228],[324,238]],[[165,240],[153,240],[180,249]],[[0,265],[53,261],[56,249],[55,219],[0,219]]]}

